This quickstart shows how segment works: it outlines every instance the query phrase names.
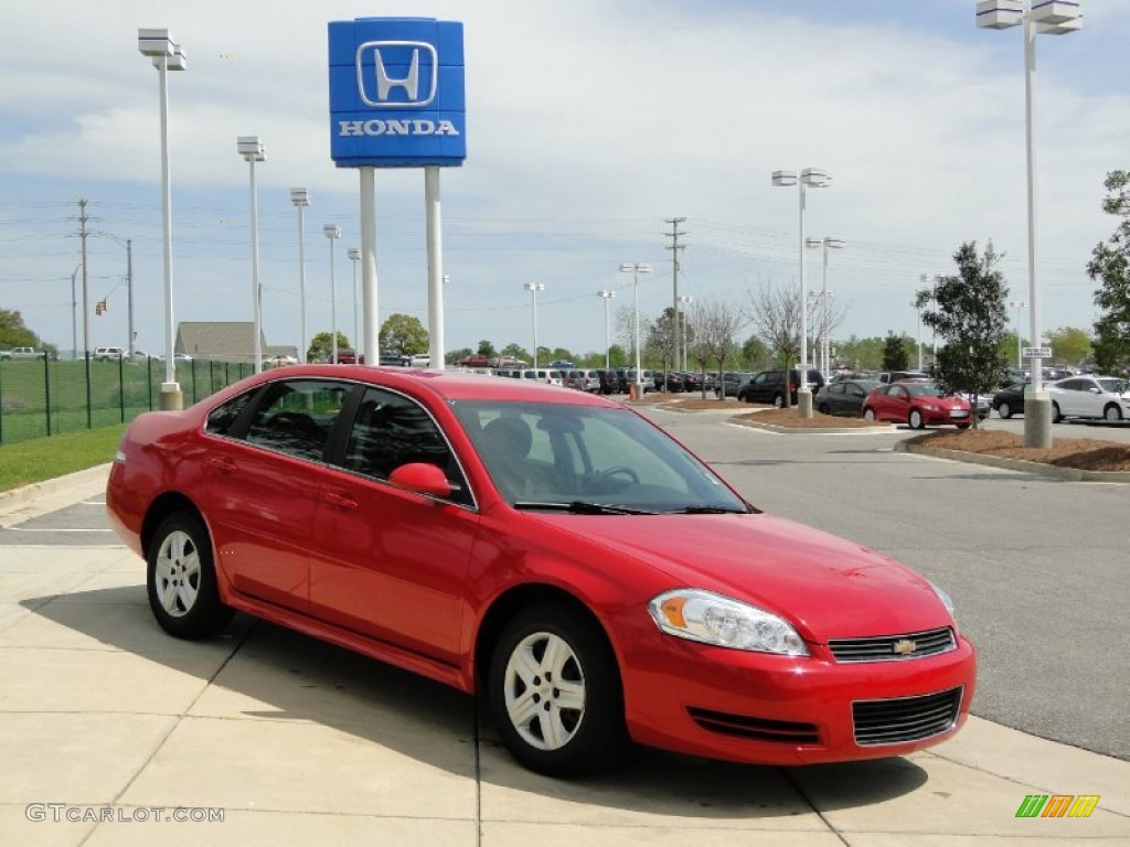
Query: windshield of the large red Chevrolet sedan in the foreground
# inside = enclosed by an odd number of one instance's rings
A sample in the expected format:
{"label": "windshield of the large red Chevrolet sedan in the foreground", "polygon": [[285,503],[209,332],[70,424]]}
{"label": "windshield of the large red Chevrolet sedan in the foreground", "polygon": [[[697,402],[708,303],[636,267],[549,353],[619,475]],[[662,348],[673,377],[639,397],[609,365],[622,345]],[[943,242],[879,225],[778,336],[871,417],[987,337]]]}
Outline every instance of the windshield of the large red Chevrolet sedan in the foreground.
{"label": "windshield of the large red Chevrolet sedan in the foreground", "polygon": [[627,409],[494,400],[452,408],[498,490],[519,508],[750,510],[706,465]]}

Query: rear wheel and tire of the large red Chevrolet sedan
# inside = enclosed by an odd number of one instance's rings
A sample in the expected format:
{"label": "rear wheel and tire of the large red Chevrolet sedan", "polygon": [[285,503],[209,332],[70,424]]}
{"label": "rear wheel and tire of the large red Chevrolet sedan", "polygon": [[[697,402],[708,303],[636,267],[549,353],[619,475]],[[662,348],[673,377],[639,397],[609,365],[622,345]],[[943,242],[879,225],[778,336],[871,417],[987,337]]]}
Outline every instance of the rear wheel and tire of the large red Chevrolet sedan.
{"label": "rear wheel and tire of the large red Chevrolet sedan", "polygon": [[233,610],[219,601],[211,539],[195,515],[162,521],[148,550],[149,608],[160,628],[176,638],[207,638],[221,630]]}

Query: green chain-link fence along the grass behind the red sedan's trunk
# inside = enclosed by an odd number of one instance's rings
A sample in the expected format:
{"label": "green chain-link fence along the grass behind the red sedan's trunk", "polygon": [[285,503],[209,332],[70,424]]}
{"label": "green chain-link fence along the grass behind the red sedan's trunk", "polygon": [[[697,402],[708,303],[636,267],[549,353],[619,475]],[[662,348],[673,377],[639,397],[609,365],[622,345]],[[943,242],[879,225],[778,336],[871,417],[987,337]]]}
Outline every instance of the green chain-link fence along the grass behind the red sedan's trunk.
{"label": "green chain-link fence along the grass behind the red sedan's trunk", "polygon": [[[176,363],[176,379],[190,405],[252,370],[192,359]],[[0,361],[0,445],[132,420],[160,408],[164,379],[165,363],[156,359]]]}

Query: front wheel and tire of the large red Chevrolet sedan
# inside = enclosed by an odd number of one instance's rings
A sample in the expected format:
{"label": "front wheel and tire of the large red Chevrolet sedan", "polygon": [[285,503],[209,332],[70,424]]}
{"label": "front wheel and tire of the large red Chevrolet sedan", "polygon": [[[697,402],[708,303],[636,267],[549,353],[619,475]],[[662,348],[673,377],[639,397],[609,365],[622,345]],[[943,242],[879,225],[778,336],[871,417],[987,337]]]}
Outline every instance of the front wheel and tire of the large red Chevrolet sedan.
{"label": "front wheel and tire of the large red Chevrolet sedan", "polygon": [[[547,647],[554,648],[553,667],[545,664]],[[568,690],[553,684],[562,680]],[[616,657],[603,632],[567,606],[531,606],[506,626],[490,657],[487,699],[503,744],[538,774],[590,774],[616,762],[627,746]],[[512,714],[523,701],[527,714]]]}

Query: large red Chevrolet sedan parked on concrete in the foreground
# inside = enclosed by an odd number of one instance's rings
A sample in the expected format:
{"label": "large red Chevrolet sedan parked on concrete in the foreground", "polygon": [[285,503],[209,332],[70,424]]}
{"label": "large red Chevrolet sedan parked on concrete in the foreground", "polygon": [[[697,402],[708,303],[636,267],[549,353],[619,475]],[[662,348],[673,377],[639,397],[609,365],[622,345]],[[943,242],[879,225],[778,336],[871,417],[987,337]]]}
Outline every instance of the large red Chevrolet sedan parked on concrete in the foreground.
{"label": "large red Chevrolet sedan parked on concrete in the foreground", "polygon": [[571,776],[950,737],[975,657],[896,561],[763,514],[633,409],[525,379],[297,366],[130,425],[106,490],[180,638],[241,610],[481,697]]}

